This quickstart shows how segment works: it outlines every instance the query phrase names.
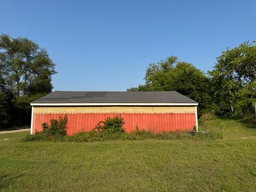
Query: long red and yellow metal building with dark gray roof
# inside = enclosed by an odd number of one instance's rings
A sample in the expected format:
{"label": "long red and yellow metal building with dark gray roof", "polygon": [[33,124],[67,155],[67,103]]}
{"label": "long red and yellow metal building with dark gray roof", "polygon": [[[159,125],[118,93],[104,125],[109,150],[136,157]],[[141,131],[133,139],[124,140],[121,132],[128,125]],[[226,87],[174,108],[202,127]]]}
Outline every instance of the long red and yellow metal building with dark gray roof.
{"label": "long red and yellow metal building with dark gray roof", "polygon": [[198,103],[175,91],[76,92],[55,91],[31,103],[31,134],[43,123],[67,115],[67,133],[92,130],[107,117],[121,116],[127,132],[139,129],[162,131],[193,130]]}

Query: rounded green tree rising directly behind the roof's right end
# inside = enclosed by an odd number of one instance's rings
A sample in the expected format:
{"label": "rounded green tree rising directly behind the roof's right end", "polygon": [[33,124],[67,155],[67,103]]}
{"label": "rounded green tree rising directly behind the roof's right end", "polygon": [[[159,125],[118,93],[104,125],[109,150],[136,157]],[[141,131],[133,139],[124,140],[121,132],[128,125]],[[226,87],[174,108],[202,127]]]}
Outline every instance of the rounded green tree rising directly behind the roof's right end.
{"label": "rounded green tree rising directly behind the roof's right end", "polygon": [[145,85],[127,91],[177,91],[199,103],[199,115],[216,108],[209,94],[210,78],[190,63],[178,61],[177,57],[151,63],[145,81]]}

